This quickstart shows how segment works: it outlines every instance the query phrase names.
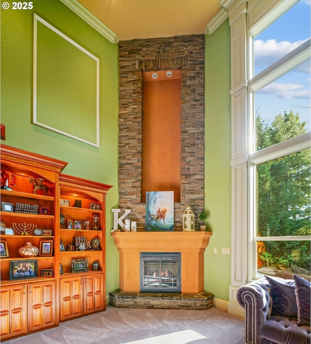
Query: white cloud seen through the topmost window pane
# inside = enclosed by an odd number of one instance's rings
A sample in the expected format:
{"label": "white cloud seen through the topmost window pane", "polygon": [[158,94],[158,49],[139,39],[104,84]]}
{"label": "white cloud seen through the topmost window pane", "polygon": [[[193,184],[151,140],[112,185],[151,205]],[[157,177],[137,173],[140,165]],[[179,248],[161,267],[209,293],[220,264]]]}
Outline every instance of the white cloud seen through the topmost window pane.
{"label": "white cloud seen through the topmost window pane", "polygon": [[263,41],[257,39],[254,41],[254,57],[256,65],[268,66],[276,62],[281,57],[299,47],[304,40],[289,42],[277,42],[276,39],[268,39]]}

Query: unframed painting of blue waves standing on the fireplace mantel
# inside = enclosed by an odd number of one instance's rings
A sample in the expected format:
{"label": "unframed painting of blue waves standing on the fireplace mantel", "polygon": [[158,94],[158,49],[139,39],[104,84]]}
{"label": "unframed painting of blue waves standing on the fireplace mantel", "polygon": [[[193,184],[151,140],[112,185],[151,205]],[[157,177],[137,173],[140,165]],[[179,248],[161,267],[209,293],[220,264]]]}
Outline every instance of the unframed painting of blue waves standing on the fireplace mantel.
{"label": "unframed painting of blue waves standing on the fireplace mantel", "polygon": [[174,191],[146,192],[146,230],[149,232],[174,230]]}

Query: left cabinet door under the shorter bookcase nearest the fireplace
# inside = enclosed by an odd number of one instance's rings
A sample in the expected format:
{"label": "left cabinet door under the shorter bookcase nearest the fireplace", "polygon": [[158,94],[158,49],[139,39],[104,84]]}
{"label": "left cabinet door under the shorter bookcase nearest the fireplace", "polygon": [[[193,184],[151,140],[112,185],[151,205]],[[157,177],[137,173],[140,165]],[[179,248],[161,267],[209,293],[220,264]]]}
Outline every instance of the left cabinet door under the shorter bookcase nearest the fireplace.
{"label": "left cabinet door under the shorter bookcase nearest the fireplace", "polygon": [[60,279],[60,321],[83,315],[84,276]]}

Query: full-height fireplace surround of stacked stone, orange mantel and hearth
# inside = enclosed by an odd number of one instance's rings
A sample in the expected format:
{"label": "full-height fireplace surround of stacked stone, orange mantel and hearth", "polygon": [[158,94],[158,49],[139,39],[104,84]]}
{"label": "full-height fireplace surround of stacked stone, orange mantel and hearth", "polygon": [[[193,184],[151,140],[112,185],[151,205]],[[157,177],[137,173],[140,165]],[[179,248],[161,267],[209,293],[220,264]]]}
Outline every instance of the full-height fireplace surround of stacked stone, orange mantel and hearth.
{"label": "full-height fireplace surround of stacked stone, orange mantel and hearth", "polygon": [[[144,232],[142,72],[176,69],[181,70],[181,161],[175,231]],[[109,294],[115,307],[207,309],[213,305],[213,295],[204,292],[203,271],[211,233],[181,232],[187,206],[196,215],[197,229],[198,215],[204,210],[204,82],[204,34],[119,43],[119,207],[131,209],[129,218],[137,222],[138,232],[112,234],[120,253],[120,290]],[[165,245],[159,247],[160,242]],[[181,268],[181,293],[139,292],[139,252],[143,251],[182,253],[187,263]]]}

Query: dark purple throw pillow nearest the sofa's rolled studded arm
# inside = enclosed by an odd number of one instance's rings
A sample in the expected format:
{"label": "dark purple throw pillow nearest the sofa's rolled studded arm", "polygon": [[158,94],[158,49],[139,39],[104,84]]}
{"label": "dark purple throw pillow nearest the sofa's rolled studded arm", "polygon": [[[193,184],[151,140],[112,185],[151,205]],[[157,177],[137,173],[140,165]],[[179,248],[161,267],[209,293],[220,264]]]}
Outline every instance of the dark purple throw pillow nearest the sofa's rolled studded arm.
{"label": "dark purple throw pillow nearest the sofa's rolled studded arm", "polygon": [[297,316],[295,282],[278,277],[265,276],[271,287],[271,315]]}

